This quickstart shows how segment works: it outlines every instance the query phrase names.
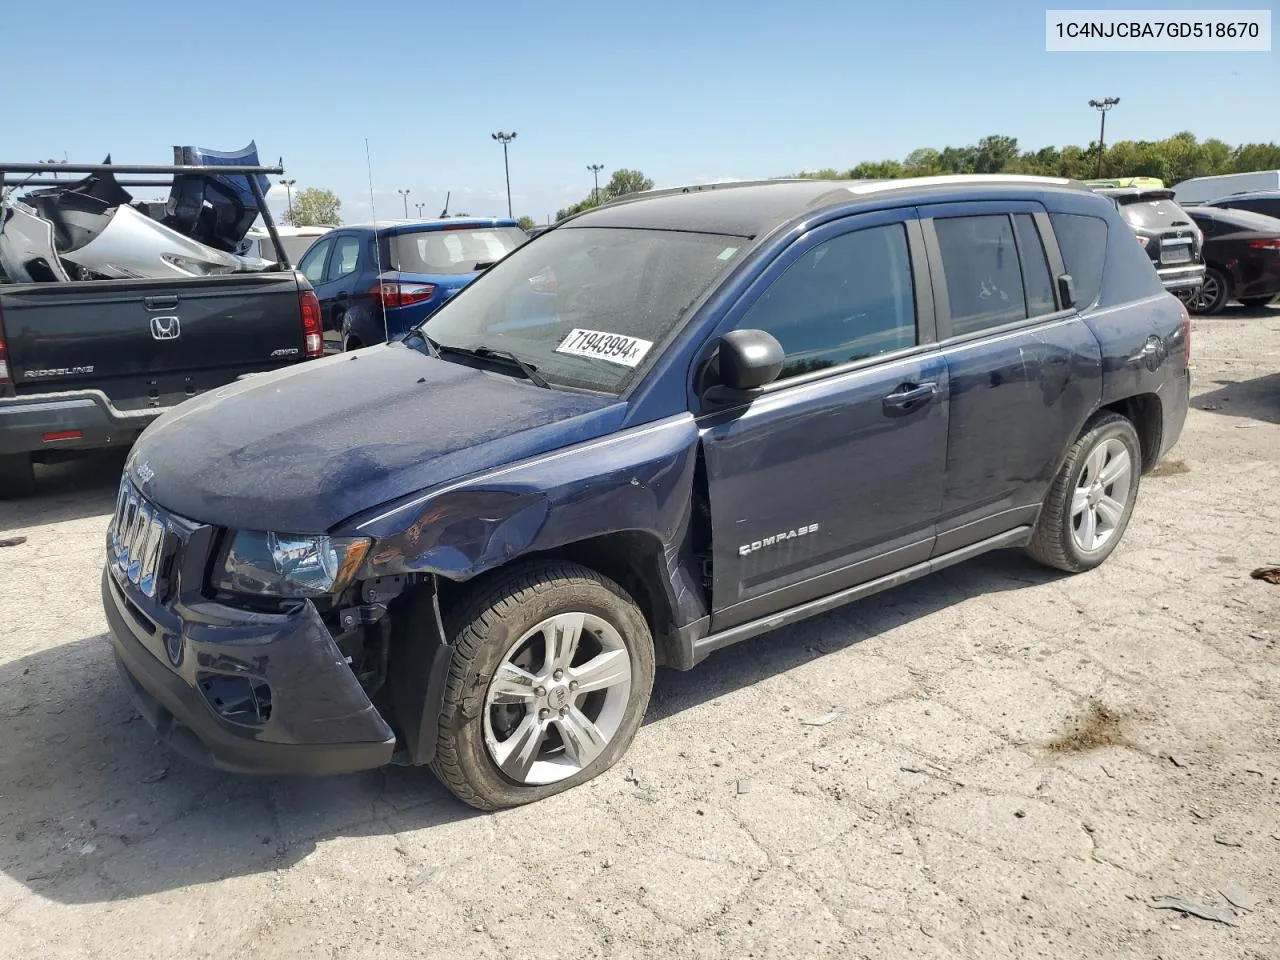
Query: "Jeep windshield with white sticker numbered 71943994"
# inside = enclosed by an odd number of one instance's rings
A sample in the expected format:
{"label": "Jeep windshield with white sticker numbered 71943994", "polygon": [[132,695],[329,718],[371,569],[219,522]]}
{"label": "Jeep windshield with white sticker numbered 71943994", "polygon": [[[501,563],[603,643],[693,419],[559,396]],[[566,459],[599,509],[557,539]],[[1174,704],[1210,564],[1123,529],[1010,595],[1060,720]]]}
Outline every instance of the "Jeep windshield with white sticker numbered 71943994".
{"label": "Jeep windshield with white sticker numbered 71943994", "polygon": [[676,230],[552,230],[421,329],[440,347],[509,351],[552,384],[621,393],[746,244]]}

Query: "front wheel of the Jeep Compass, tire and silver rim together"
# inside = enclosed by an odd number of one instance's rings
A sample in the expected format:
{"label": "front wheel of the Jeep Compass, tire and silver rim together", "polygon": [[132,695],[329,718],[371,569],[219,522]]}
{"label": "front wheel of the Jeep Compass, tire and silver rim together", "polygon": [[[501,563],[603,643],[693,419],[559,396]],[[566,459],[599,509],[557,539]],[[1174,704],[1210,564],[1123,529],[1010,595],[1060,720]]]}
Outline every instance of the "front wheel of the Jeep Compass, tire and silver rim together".
{"label": "front wheel of the Jeep Compass, tire and silver rim together", "polygon": [[453,660],[433,769],[483,810],[603,773],[635,737],[653,689],[644,614],[576,563],[527,566],[449,618]]}

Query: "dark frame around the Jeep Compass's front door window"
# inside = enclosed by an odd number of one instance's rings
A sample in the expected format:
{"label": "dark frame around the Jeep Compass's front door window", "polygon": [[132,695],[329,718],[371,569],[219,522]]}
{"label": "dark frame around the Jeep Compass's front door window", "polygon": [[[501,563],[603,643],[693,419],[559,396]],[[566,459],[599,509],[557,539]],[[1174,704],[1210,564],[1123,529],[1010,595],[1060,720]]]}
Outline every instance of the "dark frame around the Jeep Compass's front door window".
{"label": "dark frame around the Jeep Compass's front door window", "polygon": [[[716,343],[728,330],[737,328],[739,321],[755,305],[760,296],[773,285],[774,280],[800,257],[805,256],[814,247],[826,243],[846,233],[869,229],[873,227],[888,227],[902,224],[906,230],[906,251],[911,261],[911,287],[915,300],[915,339],[913,347],[904,347],[888,353],[878,353],[874,357],[864,357],[837,366],[813,370],[808,374],[791,376],[785,380],[776,380],[763,388],[763,396],[805,387],[818,380],[827,380],[851,372],[859,372],[869,367],[892,364],[906,357],[925,355],[937,351],[938,335],[934,324],[934,292],[931,278],[929,257],[925,251],[925,238],[920,229],[919,210],[915,206],[893,207],[890,210],[876,210],[868,212],[850,214],[835,220],[819,224],[812,230],[796,237],[782,252],[773,257],[769,265],[762,270],[745,291],[724,311],[716,328],[707,337],[703,346],[695,352],[694,362],[690,365],[690,376],[696,383],[701,367],[712,358]],[[744,404],[745,406],[745,404]],[[736,407],[735,407],[736,408]],[[722,413],[730,407],[717,406],[703,412]]]}

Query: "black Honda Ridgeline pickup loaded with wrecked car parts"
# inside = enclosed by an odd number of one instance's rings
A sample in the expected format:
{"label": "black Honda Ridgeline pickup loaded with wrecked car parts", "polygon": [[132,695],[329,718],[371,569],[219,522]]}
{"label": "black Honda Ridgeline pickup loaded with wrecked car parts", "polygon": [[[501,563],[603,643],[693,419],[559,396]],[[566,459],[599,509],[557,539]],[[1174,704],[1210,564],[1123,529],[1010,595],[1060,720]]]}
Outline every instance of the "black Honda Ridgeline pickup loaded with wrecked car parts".
{"label": "black Honda Ridgeline pickup loaded with wrecked car parts", "polygon": [[[209,152],[179,148],[192,163],[170,166],[0,163],[18,189],[88,174],[0,205],[0,497],[32,493],[36,462],[132,443],[189,397],[324,352],[320,305],[289,259],[230,252],[260,215],[274,233],[262,184],[282,168]],[[131,173],[168,174],[170,201],[134,202],[116,180]]]}

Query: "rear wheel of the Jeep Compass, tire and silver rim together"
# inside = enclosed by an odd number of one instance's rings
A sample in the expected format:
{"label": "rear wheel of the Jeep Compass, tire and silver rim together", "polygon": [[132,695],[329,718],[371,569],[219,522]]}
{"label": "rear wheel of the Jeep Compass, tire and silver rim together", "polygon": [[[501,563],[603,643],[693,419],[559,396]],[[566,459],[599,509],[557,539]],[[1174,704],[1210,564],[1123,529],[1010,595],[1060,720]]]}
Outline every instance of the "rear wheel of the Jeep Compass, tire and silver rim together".
{"label": "rear wheel of the Jeep Compass, tire and silver rim together", "polygon": [[1094,416],[1068,451],[1027,552],[1069,573],[1102,563],[1129,525],[1140,471],[1133,424],[1119,413]]}

